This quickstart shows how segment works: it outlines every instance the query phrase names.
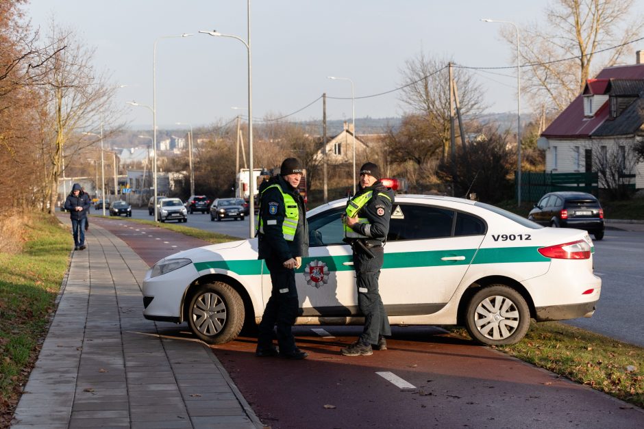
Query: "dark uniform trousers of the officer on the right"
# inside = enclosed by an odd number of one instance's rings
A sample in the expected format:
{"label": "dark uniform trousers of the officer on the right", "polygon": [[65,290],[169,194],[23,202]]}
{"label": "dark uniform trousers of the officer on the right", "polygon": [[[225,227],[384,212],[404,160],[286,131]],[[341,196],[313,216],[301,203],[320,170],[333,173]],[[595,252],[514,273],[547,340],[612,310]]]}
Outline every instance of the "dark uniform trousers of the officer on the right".
{"label": "dark uniform trousers of the officer on the right", "polygon": [[354,246],[354,268],[358,285],[358,307],[364,315],[364,328],[360,335],[363,344],[377,344],[379,335],[391,335],[391,327],[378,291],[378,277],[384,262],[384,248],[370,248],[375,257]]}

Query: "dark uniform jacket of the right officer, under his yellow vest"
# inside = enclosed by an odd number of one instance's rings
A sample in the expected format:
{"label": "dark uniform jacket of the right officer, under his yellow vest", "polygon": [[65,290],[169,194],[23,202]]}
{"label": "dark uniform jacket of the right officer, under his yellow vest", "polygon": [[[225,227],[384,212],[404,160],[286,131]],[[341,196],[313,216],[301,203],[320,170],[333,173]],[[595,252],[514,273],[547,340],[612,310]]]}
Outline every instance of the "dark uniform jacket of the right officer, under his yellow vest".
{"label": "dark uniform jacket of the right officer, under his yellow vest", "polygon": [[[373,196],[358,211],[358,218],[367,218],[369,224],[354,224],[351,229],[356,231],[356,233],[369,237],[365,239],[368,244],[378,246],[386,241],[387,233],[389,232],[389,219],[391,218],[394,193],[390,188],[384,187],[380,181],[377,181],[369,187],[360,189],[356,193],[356,196],[369,191],[373,191]],[[386,194],[391,199],[380,195],[381,193]]]}

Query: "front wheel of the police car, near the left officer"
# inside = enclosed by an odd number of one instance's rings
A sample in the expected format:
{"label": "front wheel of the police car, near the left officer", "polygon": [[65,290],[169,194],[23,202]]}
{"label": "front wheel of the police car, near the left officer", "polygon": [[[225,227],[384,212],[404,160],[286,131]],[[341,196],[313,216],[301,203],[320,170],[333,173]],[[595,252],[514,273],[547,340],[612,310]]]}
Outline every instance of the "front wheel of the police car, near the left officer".
{"label": "front wheel of the police car, near the left officer", "polygon": [[219,281],[199,286],[188,306],[188,326],[208,344],[235,339],[245,319],[244,302],[237,291]]}

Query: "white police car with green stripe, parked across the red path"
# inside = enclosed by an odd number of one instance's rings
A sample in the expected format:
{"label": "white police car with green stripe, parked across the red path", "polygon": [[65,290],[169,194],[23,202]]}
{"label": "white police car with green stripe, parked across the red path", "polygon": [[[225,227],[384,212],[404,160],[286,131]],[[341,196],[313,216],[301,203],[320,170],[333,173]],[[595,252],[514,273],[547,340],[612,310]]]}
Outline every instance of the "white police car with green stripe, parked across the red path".
{"label": "white police car with green stripe, parked across the red path", "polygon": [[[296,270],[296,324],[362,324],[351,248],[337,200],[307,213],[310,256]],[[207,343],[258,323],[271,278],[257,239],[179,252],[143,282],[144,316],[188,322]],[[399,195],[384,247],[380,295],[391,324],[460,325],[488,345],[519,341],[537,321],[590,317],[602,281],[586,231],[555,229],[491,205]]]}

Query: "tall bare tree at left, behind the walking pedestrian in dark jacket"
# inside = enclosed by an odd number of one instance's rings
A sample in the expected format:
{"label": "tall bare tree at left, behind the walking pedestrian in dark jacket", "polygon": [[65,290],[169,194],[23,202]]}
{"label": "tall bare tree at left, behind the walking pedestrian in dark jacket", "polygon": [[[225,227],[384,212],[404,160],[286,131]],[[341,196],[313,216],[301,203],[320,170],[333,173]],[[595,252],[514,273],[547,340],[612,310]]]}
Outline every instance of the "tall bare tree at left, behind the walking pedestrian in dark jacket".
{"label": "tall bare tree at left, behind the walking pedestrian in dark jacket", "polygon": [[[47,153],[50,192],[44,204],[53,213],[65,146],[79,131],[116,128],[112,105],[116,87],[110,86],[106,73],[97,73],[92,66],[94,49],[84,47],[73,31],[56,27],[53,21],[49,31],[47,49],[38,55],[40,60],[49,59],[49,67],[38,77],[38,88],[47,105],[49,129],[54,130]],[[74,159],[74,154],[65,155],[71,158],[68,162],[86,162]]]}

